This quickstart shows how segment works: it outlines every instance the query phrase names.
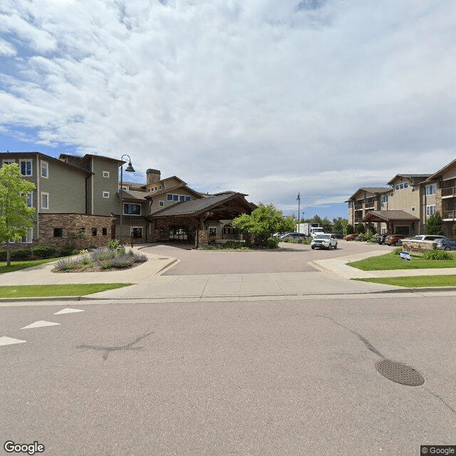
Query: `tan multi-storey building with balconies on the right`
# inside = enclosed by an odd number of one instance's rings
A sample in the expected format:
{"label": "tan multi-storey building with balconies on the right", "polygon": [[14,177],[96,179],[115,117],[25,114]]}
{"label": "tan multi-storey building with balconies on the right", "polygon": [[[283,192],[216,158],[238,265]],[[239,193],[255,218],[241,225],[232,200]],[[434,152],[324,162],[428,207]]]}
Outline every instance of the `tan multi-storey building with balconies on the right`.
{"label": "tan multi-storey building with balconies on the right", "polygon": [[427,219],[442,216],[445,236],[456,222],[456,160],[429,174],[398,174],[389,187],[361,187],[348,198],[348,223],[372,223],[377,232],[423,234]]}

